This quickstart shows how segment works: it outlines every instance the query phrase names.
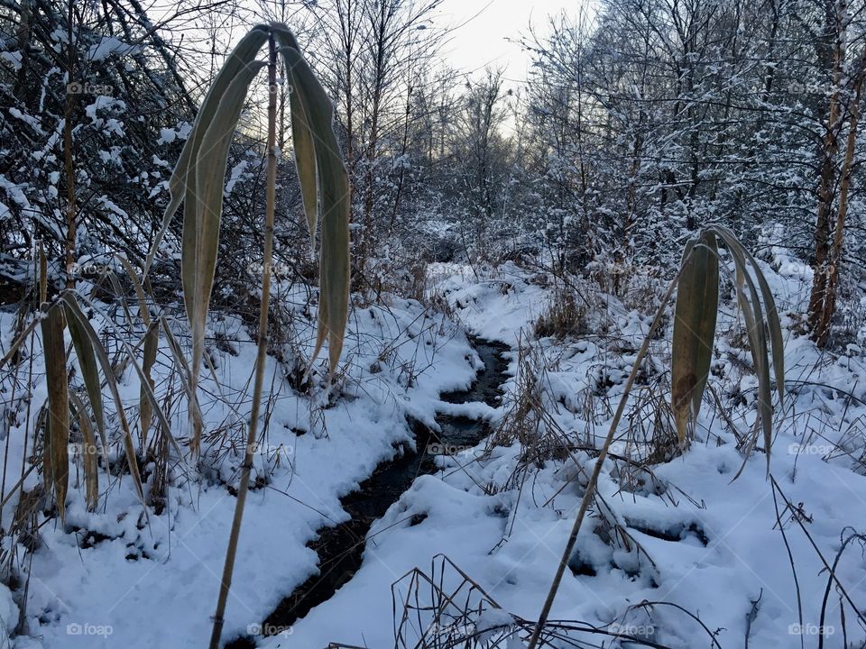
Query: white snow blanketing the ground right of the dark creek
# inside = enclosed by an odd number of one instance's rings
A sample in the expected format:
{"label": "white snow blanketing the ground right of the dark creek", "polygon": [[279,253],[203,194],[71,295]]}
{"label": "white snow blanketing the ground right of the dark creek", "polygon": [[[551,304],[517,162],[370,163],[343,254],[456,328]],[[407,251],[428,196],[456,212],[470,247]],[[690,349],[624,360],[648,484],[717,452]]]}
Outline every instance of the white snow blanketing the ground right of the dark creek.
{"label": "white snow blanketing the ground right of the dark creek", "polygon": [[[769,267],[765,271],[780,296],[780,308],[798,308],[807,295],[807,274],[799,272],[797,279],[790,279]],[[501,339],[514,341],[516,329],[526,331],[531,315],[538,313],[546,298],[529,273],[508,265],[484,270],[477,279],[465,267],[446,265],[438,268],[437,275],[437,289],[447,294],[460,318],[476,333]],[[505,285],[508,290],[501,289]],[[637,341],[640,332],[635,323],[640,319],[629,315],[625,311],[619,318],[624,327],[621,334]],[[735,326],[730,321],[726,325]],[[548,414],[563,431],[577,437],[595,431],[597,440],[606,432],[610,411],[599,420],[585,420],[569,412],[568,406],[555,404],[561,395],[574,395],[592,384],[590,370],[603,349],[586,341],[539,344],[551,358],[555,355],[550,363],[553,369],[545,377],[551,401]],[[811,343],[788,337],[790,367],[806,366],[816,360],[815,355]],[[623,367],[631,361],[633,355],[624,359]],[[866,373],[861,358],[852,364],[852,370],[844,367],[841,370],[840,364],[834,364],[815,380],[850,387]],[[513,363],[511,370],[515,370]],[[514,380],[509,381],[511,398]],[[615,404],[617,387],[612,389]],[[794,403],[788,406],[787,417],[796,411],[796,424],[779,425],[772,460],[780,490],[774,491],[767,480],[762,454],[753,454],[742,475],[732,480],[742,465],[742,455],[732,433],[707,412],[710,408],[705,408],[692,446],[680,457],[652,466],[651,477],[646,471],[630,476],[623,473],[622,463],[607,462],[599,483],[603,507],[594,507],[576,545],[576,555],[594,567],[595,575],[567,571],[551,619],[583,620],[671,647],[709,646],[704,629],[676,608],[657,605],[648,616],[646,609],[637,606],[644,601],[669,602],[699,617],[722,646],[735,646],[742,644],[747,615],[756,607],[752,645],[798,647],[801,635],[807,644],[814,642],[827,585],[822,555],[832,562],[841,540],[851,534],[849,526],[857,525],[866,503],[866,480],[861,466],[848,458],[825,461],[827,448],[838,439],[827,440],[830,444],[819,446],[819,453],[802,452],[797,444],[805,438],[803,423],[806,413],[815,410],[815,394],[806,390],[790,398]],[[831,421],[855,421],[866,414],[864,406],[862,401],[852,404],[844,416],[840,407],[834,407],[829,413]],[[496,416],[505,416],[508,408],[507,396]],[[866,432],[862,421],[858,433],[852,435],[860,444]],[[520,443],[493,447],[489,454],[482,452],[483,447],[448,458],[443,473],[415,480],[373,526],[367,536],[364,566],[355,578],[299,620],[290,638],[275,638],[265,646],[325,646],[332,641],[392,646],[392,584],[396,584],[399,618],[401,603],[408,596],[401,577],[416,567],[430,574],[438,554],[445,554],[477,581],[502,607],[502,615],[536,619],[582,495],[579,485],[585,477],[578,476],[576,466],[585,476],[594,458],[576,452],[571,460],[545,462],[531,479],[515,488],[513,482],[509,484],[521,462]],[[623,440],[617,452],[627,452],[629,447]],[[633,444],[631,447],[633,453]],[[474,456],[482,459],[472,462]],[[638,483],[630,484],[635,479]],[[797,517],[811,540],[792,513],[785,511],[782,494],[798,507]],[[421,515],[426,517],[420,523],[410,523],[413,516],[419,520]],[[785,538],[777,518],[783,522]],[[631,536],[630,547],[603,543],[594,534],[610,525],[621,526]],[[659,538],[659,534],[673,538]],[[802,623],[786,543],[797,566]],[[861,549],[852,547],[836,569],[855,602],[866,597],[862,568]],[[448,574],[455,577],[455,571]],[[837,600],[831,598],[824,622],[832,645],[842,634]],[[849,641],[862,639],[862,629],[851,621],[852,612],[846,615]],[[408,638],[409,646],[421,631],[416,629],[416,635]]]}

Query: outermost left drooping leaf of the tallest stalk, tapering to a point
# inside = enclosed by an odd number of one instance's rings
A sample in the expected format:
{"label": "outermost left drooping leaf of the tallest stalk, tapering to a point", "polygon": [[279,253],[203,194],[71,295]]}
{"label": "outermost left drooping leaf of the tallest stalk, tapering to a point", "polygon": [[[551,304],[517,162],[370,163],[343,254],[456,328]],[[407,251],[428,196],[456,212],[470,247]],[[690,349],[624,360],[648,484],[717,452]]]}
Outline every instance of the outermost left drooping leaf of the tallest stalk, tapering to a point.
{"label": "outermost left drooping leaf of the tallest stalk, tapering to a point", "polygon": [[[235,50],[226,58],[226,62],[219,70],[217,78],[211,85],[210,90],[205,96],[205,100],[198,109],[196,119],[192,124],[192,130],[189,133],[187,142],[184,143],[183,149],[180,151],[180,158],[171,173],[169,180],[169,205],[165,208],[165,213],[162,215],[162,224],[159,232],[153,239],[151,251],[147,254],[147,259],[144,261],[144,269],[142,271],[142,279],[147,277],[147,273],[153,263],[153,258],[159,250],[162,238],[169,229],[171,217],[177,212],[180,207],[180,202],[187,198],[190,199],[190,193],[195,194],[196,173],[195,164],[198,157],[198,149],[201,145],[201,137],[204,132],[199,128],[202,122],[209,122],[213,114],[217,111],[217,105],[220,98],[225,94],[226,88],[238,71],[244,68],[251,60],[255,58],[256,52],[261,49],[264,41],[268,38],[267,27],[264,25],[256,25],[248,32],[243,39],[237,44]],[[191,190],[191,191],[190,191]],[[189,209],[187,206],[184,211]]]}

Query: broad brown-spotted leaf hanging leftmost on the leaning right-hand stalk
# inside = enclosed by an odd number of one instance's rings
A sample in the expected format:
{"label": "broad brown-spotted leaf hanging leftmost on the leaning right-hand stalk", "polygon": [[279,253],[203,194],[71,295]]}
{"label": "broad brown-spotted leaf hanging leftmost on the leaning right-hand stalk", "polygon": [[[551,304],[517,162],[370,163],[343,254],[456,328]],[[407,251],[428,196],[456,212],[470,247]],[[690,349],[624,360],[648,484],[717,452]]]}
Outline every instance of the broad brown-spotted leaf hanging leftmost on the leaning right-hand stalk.
{"label": "broad brown-spotted leaf hanging leftmost on the leaning right-hand stalk", "polygon": [[696,417],[713,361],[715,322],[719,305],[719,259],[715,237],[705,234],[689,242],[677,288],[674,337],[671,345],[671,409],[679,442]]}

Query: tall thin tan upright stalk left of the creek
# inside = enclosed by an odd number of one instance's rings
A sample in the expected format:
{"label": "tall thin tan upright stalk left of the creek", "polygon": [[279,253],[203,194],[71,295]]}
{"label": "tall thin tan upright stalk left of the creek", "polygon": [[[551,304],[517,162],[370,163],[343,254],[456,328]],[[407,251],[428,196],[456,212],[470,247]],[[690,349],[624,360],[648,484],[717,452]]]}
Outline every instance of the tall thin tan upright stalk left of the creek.
{"label": "tall thin tan upright stalk left of the creek", "polygon": [[277,154],[276,154],[276,115],[277,96],[273,91],[277,85],[277,49],[273,33],[268,37],[268,179],[266,190],[265,224],[264,224],[264,254],[262,271],[262,305],[259,311],[259,347],[255,359],[255,381],[253,383],[253,408],[250,412],[250,425],[247,431],[244,464],[241,466],[241,481],[237,488],[235,517],[228,537],[226,564],[223,567],[223,578],[217,599],[217,613],[214,616],[214,627],[210,635],[210,649],[219,649],[220,635],[223,633],[224,615],[228,591],[232,585],[232,572],[235,570],[235,555],[237,542],[241,534],[241,521],[244,517],[246,492],[250,481],[250,471],[253,468],[253,448],[258,429],[259,407],[262,401],[264,384],[264,363],[268,350],[268,303],[271,297],[271,258],[273,250],[273,215],[276,203]]}

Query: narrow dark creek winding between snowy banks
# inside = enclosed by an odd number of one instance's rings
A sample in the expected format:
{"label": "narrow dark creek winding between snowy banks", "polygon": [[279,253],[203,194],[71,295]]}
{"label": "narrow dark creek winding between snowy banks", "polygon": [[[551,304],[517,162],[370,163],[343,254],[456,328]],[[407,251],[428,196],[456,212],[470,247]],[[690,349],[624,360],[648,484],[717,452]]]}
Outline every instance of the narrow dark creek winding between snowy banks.
{"label": "narrow dark creek winding between snowy banks", "polygon": [[[508,361],[504,352],[508,345],[472,338],[475,352],[484,362],[484,369],[475,377],[472,386],[440,395],[453,404],[484,402],[498,406],[502,397],[502,383],[507,379]],[[308,546],[318,553],[319,572],[283,599],[262,625],[263,630],[288,628],[306,616],[312,608],[331,599],[361,567],[364,542],[373,521],[384,516],[416,477],[437,471],[435,455],[439,446],[467,446],[479,443],[489,432],[484,420],[440,413],[436,422],[441,432],[436,433],[418,421],[410,421],[415,435],[416,451],[404,448],[401,455],[382,462],[360,489],[340,499],[351,518],[337,526],[322,527],[318,537]],[[251,636],[241,636],[226,644],[226,649],[252,649],[256,646]]]}

